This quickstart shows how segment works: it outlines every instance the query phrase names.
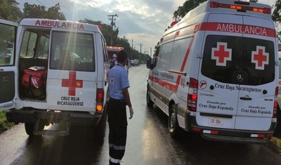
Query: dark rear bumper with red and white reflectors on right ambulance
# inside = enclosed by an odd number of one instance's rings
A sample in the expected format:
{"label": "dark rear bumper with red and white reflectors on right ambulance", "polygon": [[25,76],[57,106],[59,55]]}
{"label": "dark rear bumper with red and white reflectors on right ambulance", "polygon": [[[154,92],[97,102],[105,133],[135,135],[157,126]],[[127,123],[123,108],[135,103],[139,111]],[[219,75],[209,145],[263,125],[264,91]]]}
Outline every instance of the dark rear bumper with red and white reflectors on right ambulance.
{"label": "dark rear bumper with red and white reflectors on right ambulance", "polygon": [[[268,139],[273,135],[275,123],[271,123],[268,131],[251,131],[237,130],[226,128],[214,128],[207,126],[199,126],[196,117],[188,115],[190,121],[190,131],[200,133],[202,138],[206,140],[214,140],[228,143],[267,143]],[[256,137],[261,135],[261,137]],[[263,137],[262,137],[263,136]]]}

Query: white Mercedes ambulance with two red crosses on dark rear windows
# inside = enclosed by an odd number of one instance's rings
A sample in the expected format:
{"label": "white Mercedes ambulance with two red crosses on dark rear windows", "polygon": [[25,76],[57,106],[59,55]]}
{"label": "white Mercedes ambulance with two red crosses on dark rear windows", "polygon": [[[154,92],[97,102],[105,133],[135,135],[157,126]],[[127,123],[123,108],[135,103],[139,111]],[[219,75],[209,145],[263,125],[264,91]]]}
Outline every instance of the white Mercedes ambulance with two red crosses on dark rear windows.
{"label": "white Mercedes ambulance with two red crosses on dark rear windows", "polygon": [[270,6],[210,0],[166,29],[148,60],[147,104],[207,140],[265,143],[276,124],[277,39]]}

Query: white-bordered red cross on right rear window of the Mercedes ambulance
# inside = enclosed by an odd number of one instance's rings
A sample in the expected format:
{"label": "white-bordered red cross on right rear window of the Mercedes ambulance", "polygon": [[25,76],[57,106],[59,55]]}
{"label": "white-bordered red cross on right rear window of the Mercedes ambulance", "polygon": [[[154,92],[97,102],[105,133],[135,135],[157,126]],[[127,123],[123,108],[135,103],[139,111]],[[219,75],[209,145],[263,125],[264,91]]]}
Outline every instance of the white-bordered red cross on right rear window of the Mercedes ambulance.
{"label": "white-bordered red cross on right rear window of the Mercedes ambulance", "polygon": [[251,62],[256,63],[257,70],[264,70],[264,65],[268,65],[268,55],[264,46],[256,46],[256,51],[251,51]]}

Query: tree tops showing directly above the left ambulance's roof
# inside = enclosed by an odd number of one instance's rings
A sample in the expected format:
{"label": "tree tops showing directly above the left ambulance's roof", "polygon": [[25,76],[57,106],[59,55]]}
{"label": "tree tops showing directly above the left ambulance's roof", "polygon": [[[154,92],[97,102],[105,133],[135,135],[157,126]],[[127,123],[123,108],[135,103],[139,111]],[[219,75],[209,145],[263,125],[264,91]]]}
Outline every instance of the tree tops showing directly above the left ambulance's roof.
{"label": "tree tops showing directly above the left ambulance's roof", "polygon": [[55,4],[46,11],[45,6],[24,4],[23,18],[48,18],[53,20],[65,20],[65,15],[60,12],[60,4]]}

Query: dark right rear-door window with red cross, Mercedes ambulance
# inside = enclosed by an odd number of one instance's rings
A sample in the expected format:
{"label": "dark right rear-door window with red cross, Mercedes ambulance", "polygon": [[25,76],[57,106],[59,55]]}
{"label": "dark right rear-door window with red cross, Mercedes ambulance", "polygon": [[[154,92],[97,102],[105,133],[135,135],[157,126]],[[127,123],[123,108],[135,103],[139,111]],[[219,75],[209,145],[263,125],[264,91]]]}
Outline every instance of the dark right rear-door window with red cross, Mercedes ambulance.
{"label": "dark right rear-door window with red cross, Mercedes ambulance", "polygon": [[243,38],[242,72],[247,85],[268,84],[275,79],[275,48],[273,41]]}

